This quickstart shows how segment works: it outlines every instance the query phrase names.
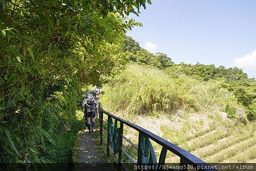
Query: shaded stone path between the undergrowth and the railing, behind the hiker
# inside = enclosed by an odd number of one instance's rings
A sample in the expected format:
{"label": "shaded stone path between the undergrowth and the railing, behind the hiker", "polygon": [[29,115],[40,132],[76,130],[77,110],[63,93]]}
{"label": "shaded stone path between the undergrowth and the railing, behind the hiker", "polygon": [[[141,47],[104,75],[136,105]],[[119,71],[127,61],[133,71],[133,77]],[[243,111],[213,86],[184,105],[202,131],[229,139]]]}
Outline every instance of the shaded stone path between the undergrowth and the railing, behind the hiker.
{"label": "shaded stone path between the undergrowth and the railing, behind the hiker", "polygon": [[114,170],[100,146],[99,131],[82,130],[72,154],[73,170]]}

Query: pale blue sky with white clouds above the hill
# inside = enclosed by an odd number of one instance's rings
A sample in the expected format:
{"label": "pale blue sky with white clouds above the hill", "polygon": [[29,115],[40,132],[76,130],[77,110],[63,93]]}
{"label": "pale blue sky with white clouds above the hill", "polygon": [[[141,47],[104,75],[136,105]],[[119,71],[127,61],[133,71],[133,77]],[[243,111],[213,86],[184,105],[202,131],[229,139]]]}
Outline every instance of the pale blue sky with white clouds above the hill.
{"label": "pale blue sky with white clouds above the hill", "polygon": [[127,35],[176,62],[238,66],[256,77],[255,0],[152,0]]}

